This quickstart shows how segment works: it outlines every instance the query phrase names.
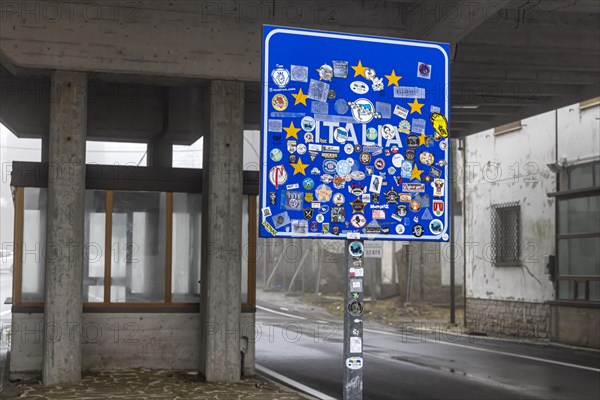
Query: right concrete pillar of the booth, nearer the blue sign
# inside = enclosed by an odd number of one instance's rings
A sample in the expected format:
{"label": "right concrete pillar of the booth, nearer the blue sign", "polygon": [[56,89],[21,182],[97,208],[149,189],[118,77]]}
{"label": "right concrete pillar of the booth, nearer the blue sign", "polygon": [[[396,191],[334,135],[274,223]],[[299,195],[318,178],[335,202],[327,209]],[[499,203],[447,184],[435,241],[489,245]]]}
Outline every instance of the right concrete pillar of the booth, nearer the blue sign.
{"label": "right concrete pillar of the booth, nearer the blue sign", "polygon": [[240,379],[244,84],[207,88],[202,188],[200,375]]}

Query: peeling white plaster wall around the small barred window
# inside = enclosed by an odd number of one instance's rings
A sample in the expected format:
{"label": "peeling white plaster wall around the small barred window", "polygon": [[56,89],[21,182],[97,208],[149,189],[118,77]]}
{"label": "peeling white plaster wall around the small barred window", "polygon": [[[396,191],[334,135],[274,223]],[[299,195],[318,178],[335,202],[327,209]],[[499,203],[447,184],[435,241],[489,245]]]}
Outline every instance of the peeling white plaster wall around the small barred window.
{"label": "peeling white plaster wall around the small barred window", "polygon": [[[544,256],[555,254],[555,201],[546,193],[557,187],[547,165],[555,161],[556,140],[559,158],[598,155],[599,115],[598,106],[580,110],[576,104],[525,119],[517,131],[494,135],[487,130],[465,139],[467,297],[530,302],[554,298]],[[521,205],[523,266],[494,267],[491,206],[513,201]]]}

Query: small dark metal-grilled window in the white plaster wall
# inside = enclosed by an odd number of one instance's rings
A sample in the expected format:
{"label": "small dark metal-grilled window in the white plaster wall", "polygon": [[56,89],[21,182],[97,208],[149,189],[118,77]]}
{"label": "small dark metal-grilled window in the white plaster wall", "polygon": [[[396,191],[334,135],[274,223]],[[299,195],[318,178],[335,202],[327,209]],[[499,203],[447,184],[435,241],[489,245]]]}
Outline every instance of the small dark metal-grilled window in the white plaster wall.
{"label": "small dark metal-grilled window in the white plaster wall", "polygon": [[518,202],[492,206],[492,262],[497,267],[519,266],[521,207]]}

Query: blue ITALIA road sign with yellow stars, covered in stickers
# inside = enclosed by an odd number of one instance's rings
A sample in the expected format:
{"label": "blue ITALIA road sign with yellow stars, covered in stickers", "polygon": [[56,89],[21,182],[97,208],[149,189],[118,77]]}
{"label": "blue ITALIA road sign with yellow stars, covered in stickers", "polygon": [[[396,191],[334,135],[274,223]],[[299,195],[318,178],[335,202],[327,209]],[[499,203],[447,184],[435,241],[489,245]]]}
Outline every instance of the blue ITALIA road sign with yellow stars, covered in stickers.
{"label": "blue ITALIA road sign with yellow stars, covered in stickers", "polygon": [[449,240],[449,46],[265,26],[260,236]]}

